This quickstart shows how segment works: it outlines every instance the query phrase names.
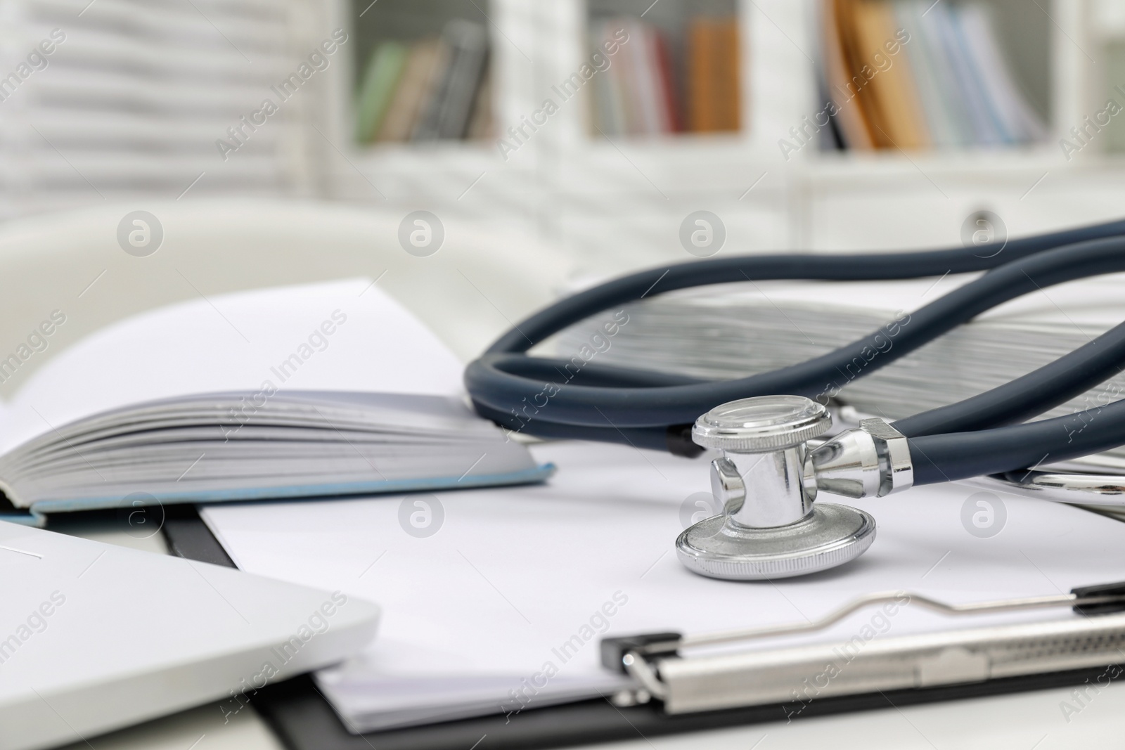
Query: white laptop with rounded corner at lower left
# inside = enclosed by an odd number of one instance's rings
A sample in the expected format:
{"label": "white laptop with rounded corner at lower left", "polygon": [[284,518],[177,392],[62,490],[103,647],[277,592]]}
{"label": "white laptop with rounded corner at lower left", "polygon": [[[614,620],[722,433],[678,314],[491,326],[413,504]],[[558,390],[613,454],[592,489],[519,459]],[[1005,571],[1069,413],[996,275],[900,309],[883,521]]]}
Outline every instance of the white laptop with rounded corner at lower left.
{"label": "white laptop with rounded corner at lower left", "polygon": [[0,747],[32,750],[214,702],[358,652],[379,607],[341,591],[0,522]]}

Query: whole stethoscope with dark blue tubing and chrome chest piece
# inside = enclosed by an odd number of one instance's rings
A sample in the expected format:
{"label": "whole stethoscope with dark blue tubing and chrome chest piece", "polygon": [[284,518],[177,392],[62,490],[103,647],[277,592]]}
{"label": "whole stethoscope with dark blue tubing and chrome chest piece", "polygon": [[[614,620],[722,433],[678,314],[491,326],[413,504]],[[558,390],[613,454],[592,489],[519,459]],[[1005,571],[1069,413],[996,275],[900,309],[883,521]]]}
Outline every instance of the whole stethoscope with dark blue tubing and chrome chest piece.
{"label": "whole stethoscope with dark blue tubing and chrome chest piece", "polygon": [[[984,310],[1022,295],[1125,271],[1125,220],[978,249],[849,255],[746,255],[641,271],[551,305],[513,326],[465,372],[478,414],[541,437],[628,443],[699,455],[723,513],[684,531],[680,560],[714,578],[772,579],[825,570],[874,540],[867,513],[813,503],[818,491],[883,497],[912,486],[991,476],[1028,494],[1097,503],[1120,478],[1069,484],[1034,471],[1125,444],[1125,400],[1027,422],[1125,368],[1125,323],[1038,370],[963,401],[894,423],[880,417],[827,441],[829,395]],[[987,271],[910,315],[834,352],[726,381],[529,356],[551,334],[603,310],[676,289],[776,279],[893,280]],[[891,342],[893,345],[889,345]],[[564,373],[566,373],[564,376]],[[848,373],[845,377],[845,373]],[[702,416],[700,416],[702,415]],[[1028,468],[1032,469],[1028,469]],[[1082,491],[1084,490],[1084,491]],[[1086,499],[1073,499],[1076,491]]]}

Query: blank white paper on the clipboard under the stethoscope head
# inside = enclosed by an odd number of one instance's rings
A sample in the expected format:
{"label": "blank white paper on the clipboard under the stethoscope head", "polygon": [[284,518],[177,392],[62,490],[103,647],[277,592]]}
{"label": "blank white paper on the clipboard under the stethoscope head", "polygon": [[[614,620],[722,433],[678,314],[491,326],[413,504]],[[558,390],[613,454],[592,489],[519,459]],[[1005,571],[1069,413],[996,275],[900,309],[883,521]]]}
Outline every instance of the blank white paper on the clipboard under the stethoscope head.
{"label": "blank white paper on the clipboard under the stethoscope head", "polygon": [[[879,531],[846,567],[773,582],[711,580],[683,568],[673,548],[692,514],[712,515],[699,505],[710,497],[706,461],[586,443],[546,443],[533,453],[559,467],[546,486],[227,505],[202,515],[240,568],[384,606],[381,631],[363,657],[322,680],[348,712],[457,701],[493,704],[477,713],[510,711],[519,705],[511,690],[543,683],[534,676],[548,662],[558,675],[537,697],[584,683],[604,690],[615,684],[598,666],[605,634],[803,622],[880,590],[956,603],[1125,578],[1125,524],[944,485],[856,501]],[[438,523],[435,499],[443,512],[436,532],[407,533],[399,519],[422,508],[415,501],[431,506]],[[968,530],[975,527],[973,514],[983,513],[976,523],[989,519],[980,500],[1000,525],[991,537]],[[884,617],[885,626],[873,616],[853,615],[832,633],[847,639],[864,626],[901,634],[1004,620],[950,620],[909,607]],[[574,636],[580,647],[562,651]]]}

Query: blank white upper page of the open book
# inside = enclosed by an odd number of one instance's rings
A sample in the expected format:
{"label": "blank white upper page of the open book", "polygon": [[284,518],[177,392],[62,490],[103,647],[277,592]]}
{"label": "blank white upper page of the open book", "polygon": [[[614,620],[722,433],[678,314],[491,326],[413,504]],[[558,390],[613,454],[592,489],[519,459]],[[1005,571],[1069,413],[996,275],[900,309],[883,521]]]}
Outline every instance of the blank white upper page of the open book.
{"label": "blank white upper page of the open book", "polygon": [[51,360],[6,405],[0,451],[165,396],[256,391],[267,380],[282,390],[458,395],[461,370],[370,279],[199,298],[122,320]]}

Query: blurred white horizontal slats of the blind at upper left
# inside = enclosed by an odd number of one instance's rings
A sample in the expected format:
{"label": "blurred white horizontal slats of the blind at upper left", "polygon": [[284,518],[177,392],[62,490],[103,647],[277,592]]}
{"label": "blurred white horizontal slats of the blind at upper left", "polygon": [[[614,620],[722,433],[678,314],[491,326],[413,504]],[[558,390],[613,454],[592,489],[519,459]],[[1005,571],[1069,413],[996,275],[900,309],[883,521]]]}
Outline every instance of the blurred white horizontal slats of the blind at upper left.
{"label": "blurred white horizontal slats of the blind at upper left", "polygon": [[[300,192],[310,101],[273,88],[307,53],[299,4],[0,3],[0,215],[186,190]],[[276,111],[262,112],[266,100]]]}

